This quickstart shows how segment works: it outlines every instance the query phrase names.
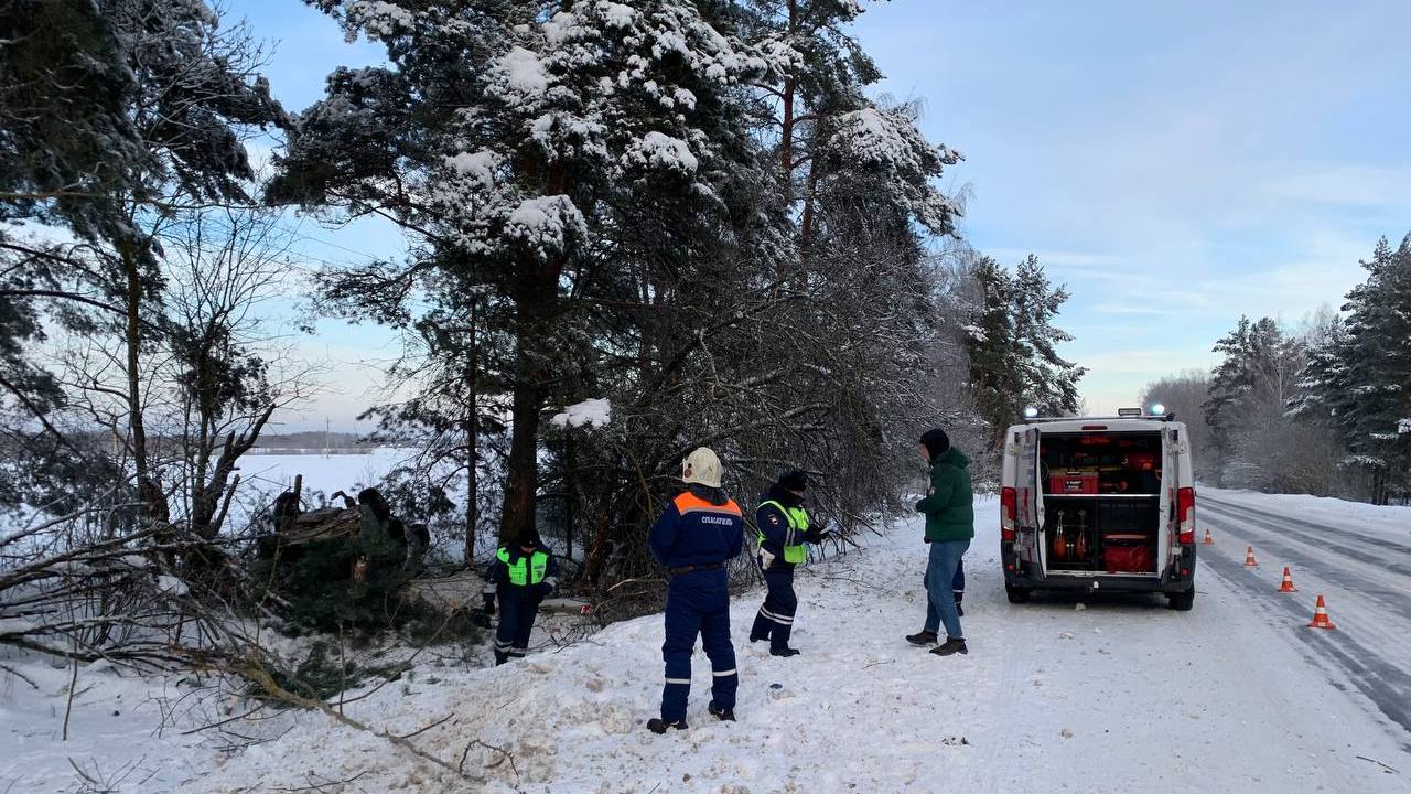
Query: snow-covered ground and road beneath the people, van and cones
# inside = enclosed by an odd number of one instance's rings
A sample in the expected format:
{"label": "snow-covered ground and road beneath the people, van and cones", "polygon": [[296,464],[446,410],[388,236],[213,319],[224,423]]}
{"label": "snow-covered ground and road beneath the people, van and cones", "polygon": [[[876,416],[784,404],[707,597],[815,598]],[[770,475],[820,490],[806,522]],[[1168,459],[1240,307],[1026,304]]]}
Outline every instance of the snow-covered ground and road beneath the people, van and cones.
{"label": "snow-covered ground and road beneath the people, van and cones", "polygon": [[[1232,519],[1242,507],[1254,513]],[[251,726],[278,739],[231,753],[175,730],[158,739],[155,708],[117,706],[92,682],[65,746],[54,736],[66,674],[54,670],[41,681],[47,701],[23,684],[0,694],[11,750],[0,793],[73,790],[65,754],[104,770],[141,757],[134,770],[161,770],[145,786],[134,771],[119,787],[133,791],[1411,791],[1411,732],[1395,709],[1411,681],[1411,585],[1397,572],[1411,550],[1386,545],[1405,513],[1307,507],[1202,492],[1216,545],[1201,547],[1195,609],[1178,613],[1153,596],[1009,605],[995,506],[981,504],[967,555],[971,654],[951,658],[902,639],[923,616],[924,550],[914,523],[899,526],[800,572],[800,657],[748,646],[761,595],[737,599],[737,723],[706,713],[710,671],[698,656],[690,730],[642,728],[660,694],[659,616],[501,668],[422,665],[346,708],[395,735],[425,729],[408,740],[450,769],[317,713]],[[1336,530],[1315,533],[1295,516]],[[1239,565],[1245,535],[1259,569]],[[1295,551],[1308,561],[1294,568],[1302,592],[1274,593]],[[1319,591],[1333,633],[1304,627]],[[80,689],[103,678],[85,672]],[[124,716],[110,716],[119,708]]]}

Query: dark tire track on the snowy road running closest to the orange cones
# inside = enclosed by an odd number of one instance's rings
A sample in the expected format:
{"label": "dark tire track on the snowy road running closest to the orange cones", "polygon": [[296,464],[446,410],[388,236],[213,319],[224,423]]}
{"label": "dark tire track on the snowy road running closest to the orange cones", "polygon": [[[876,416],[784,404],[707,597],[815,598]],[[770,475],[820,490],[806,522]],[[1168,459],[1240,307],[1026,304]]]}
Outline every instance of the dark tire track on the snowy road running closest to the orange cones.
{"label": "dark tire track on the snowy road running closest to the orange cones", "polygon": [[[1268,588],[1268,582],[1250,576],[1242,564],[1221,554],[1202,557],[1202,561],[1232,589],[1253,593],[1253,600],[1270,617],[1287,617],[1288,626],[1295,627],[1294,636],[1302,644],[1304,657],[1319,667],[1332,667],[1356,687],[1386,719],[1401,728],[1400,735],[1394,737],[1405,752],[1411,753],[1411,672],[1346,633],[1339,632],[1333,639],[1324,632],[1307,629],[1307,605],[1280,598]],[[1340,688],[1336,680],[1333,685]]]}

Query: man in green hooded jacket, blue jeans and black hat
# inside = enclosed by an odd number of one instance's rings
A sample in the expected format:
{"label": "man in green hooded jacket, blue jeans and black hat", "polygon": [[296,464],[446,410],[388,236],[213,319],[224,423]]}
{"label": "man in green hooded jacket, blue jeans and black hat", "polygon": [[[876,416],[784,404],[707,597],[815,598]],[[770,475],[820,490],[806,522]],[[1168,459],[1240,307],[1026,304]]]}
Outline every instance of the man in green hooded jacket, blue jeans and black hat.
{"label": "man in green hooded jacket, blue jeans and black hat", "polygon": [[943,429],[921,434],[921,458],[931,472],[931,486],[926,499],[916,503],[916,511],[926,514],[926,543],[931,545],[926,564],[926,627],[909,634],[914,646],[934,646],[937,632],[945,626],[945,641],[931,648],[937,656],[969,653],[961,617],[955,609],[951,581],[961,557],[975,537],[975,506],[969,480],[969,458],[951,448]]}

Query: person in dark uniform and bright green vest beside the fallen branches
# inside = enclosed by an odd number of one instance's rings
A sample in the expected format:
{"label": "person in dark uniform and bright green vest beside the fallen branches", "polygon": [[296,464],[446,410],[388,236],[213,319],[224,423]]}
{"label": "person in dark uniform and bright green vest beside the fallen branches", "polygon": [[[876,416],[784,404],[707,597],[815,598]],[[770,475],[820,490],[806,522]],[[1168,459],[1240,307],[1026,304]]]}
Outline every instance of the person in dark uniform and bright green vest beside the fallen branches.
{"label": "person in dark uniform and bright green vest beside the fallen branches", "polygon": [[[495,665],[509,657],[523,658],[529,650],[529,632],[539,616],[539,602],[559,585],[559,562],[529,530],[512,544],[502,545],[490,561],[487,589],[492,582],[499,600],[499,629],[495,630]],[[488,598],[487,608],[494,609]]]}

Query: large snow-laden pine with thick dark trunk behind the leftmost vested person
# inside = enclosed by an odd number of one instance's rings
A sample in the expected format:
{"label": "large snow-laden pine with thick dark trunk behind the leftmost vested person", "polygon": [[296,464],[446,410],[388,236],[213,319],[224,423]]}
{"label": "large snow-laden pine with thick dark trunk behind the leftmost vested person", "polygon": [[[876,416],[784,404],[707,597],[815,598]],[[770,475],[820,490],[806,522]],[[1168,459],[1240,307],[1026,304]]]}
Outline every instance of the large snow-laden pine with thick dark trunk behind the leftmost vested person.
{"label": "large snow-laden pine with thick dark trunk behind the leftmost vested person", "polygon": [[[738,88],[765,64],[686,0],[320,6],[385,42],[391,66],[330,75],[270,199],[392,218],[514,302],[501,533],[518,534],[576,312],[638,311],[595,302],[632,268],[690,270],[748,147]],[[619,256],[624,235],[648,233],[660,259]],[[382,283],[406,294],[423,267]]]}

